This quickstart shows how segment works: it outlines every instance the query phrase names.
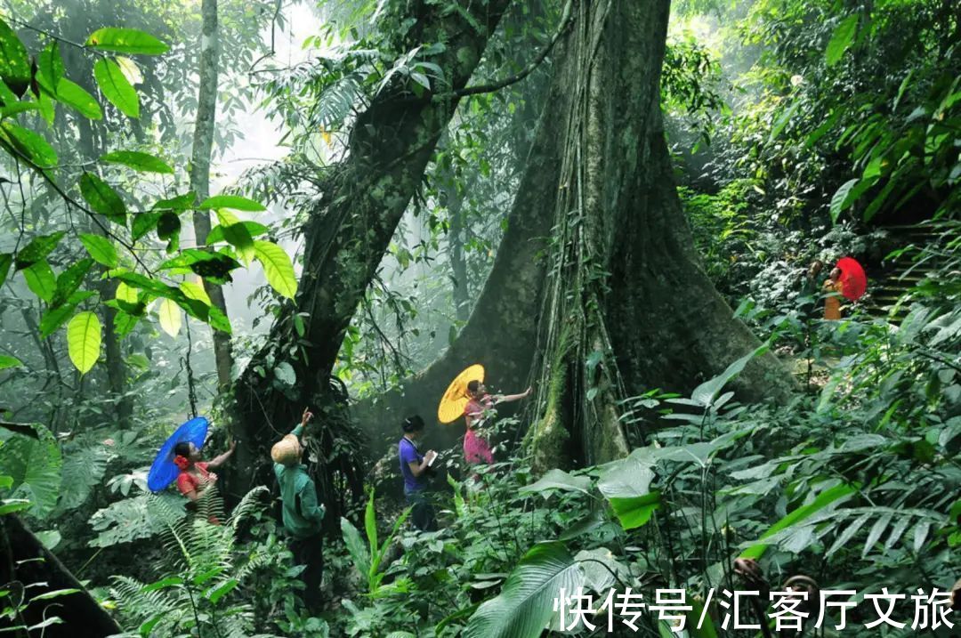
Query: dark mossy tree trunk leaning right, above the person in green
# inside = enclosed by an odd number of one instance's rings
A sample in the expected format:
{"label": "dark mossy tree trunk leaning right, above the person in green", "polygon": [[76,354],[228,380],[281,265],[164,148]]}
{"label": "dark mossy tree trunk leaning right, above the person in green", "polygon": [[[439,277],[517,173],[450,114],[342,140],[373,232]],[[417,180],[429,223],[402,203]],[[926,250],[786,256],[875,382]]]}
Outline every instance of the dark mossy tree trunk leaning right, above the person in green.
{"label": "dark mossy tree trunk leaning right, above the person in green", "polygon": [[[398,51],[444,42],[444,50],[429,60],[443,69],[447,86],[418,97],[412,83],[396,75],[358,114],[348,156],[311,211],[296,307],[274,324],[268,345],[234,385],[234,413],[239,429],[248,432],[228,477],[234,494],[269,478],[262,459],[269,458],[270,445],[292,428],[304,404],[324,403],[344,332],[456,110],[453,91],[467,84],[509,0],[458,4],[457,12],[437,3],[407,4],[405,11],[412,12],[407,17],[415,22]],[[296,330],[295,311],[306,313],[303,335]],[[293,387],[284,388],[273,375],[283,361],[296,373]],[[325,415],[318,421],[323,427]],[[328,496],[333,497],[322,498]],[[330,507],[329,515],[336,516]]]}

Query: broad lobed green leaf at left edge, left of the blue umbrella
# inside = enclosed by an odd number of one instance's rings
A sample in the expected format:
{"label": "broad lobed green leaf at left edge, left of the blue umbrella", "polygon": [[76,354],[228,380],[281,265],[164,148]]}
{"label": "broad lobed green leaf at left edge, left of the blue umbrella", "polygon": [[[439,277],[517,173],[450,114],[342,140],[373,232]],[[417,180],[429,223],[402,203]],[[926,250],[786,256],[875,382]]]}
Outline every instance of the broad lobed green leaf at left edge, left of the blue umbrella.
{"label": "broad lobed green leaf at left edge, left of the blue umbrella", "polygon": [[42,518],[57,504],[62,459],[50,430],[34,429],[37,438],[0,431],[0,475],[13,478],[9,498],[27,499],[31,515]]}

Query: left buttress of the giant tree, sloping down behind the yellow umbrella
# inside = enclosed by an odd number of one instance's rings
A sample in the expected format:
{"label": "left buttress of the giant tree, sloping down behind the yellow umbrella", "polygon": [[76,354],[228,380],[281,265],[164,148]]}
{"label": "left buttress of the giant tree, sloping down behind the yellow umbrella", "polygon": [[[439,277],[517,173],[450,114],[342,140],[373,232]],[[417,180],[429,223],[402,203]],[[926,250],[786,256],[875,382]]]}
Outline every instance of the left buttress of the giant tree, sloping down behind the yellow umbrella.
{"label": "left buttress of the giant tree, sloping down behind the yellow umbrella", "polygon": [[[563,149],[564,95],[571,84],[570,73],[560,68],[545,92],[545,107],[504,238],[467,325],[427,370],[397,390],[355,407],[357,422],[366,429],[375,453],[382,454],[387,442],[400,436],[400,421],[407,412],[419,412],[434,423],[444,390],[472,363],[484,366],[487,384],[499,391],[519,391],[528,382],[546,272],[544,253],[557,197],[554,162]],[[458,421],[431,429],[428,436],[431,447],[440,450],[455,445],[463,433],[464,424]]]}

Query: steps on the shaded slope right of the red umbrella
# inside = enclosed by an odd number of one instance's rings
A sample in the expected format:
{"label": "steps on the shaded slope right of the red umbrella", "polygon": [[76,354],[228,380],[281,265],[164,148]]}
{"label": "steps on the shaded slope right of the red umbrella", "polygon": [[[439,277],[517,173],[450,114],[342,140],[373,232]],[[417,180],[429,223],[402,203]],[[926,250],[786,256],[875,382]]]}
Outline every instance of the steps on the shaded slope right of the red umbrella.
{"label": "steps on the shaded slope right of the red umbrella", "polygon": [[[956,221],[926,221],[905,226],[885,226],[892,245],[899,248],[889,252],[895,257],[885,258],[880,269],[869,274],[868,292],[861,301],[869,315],[887,318],[895,323],[907,314],[907,307],[899,306],[905,294],[920,282],[949,266],[951,255],[945,247],[957,243],[961,223]],[[927,251],[922,256],[923,251]],[[872,274],[874,277],[872,277]]]}

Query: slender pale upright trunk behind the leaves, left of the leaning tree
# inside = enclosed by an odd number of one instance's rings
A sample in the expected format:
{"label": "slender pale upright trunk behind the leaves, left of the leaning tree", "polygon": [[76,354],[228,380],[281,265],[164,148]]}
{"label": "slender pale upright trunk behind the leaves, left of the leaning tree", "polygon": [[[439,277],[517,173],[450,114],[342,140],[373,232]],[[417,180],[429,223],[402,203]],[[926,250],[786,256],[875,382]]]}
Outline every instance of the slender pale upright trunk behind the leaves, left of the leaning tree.
{"label": "slender pale upright trunk behind the leaves, left of the leaning tree", "polygon": [[[217,34],[217,0],[203,0],[201,4],[203,25],[200,37],[200,88],[197,92],[197,121],[193,129],[193,149],[190,158],[190,188],[197,193],[198,201],[203,202],[210,194],[210,149],[213,147],[213,130],[217,114],[217,71],[220,56]],[[193,233],[197,246],[207,243],[210,233],[209,210],[195,210],[193,213]],[[227,315],[224,290],[218,284],[204,281],[204,289],[210,303]],[[213,332],[213,357],[217,368],[217,384],[220,388],[230,387],[233,378],[234,354],[231,350],[231,335],[226,332]]]}

